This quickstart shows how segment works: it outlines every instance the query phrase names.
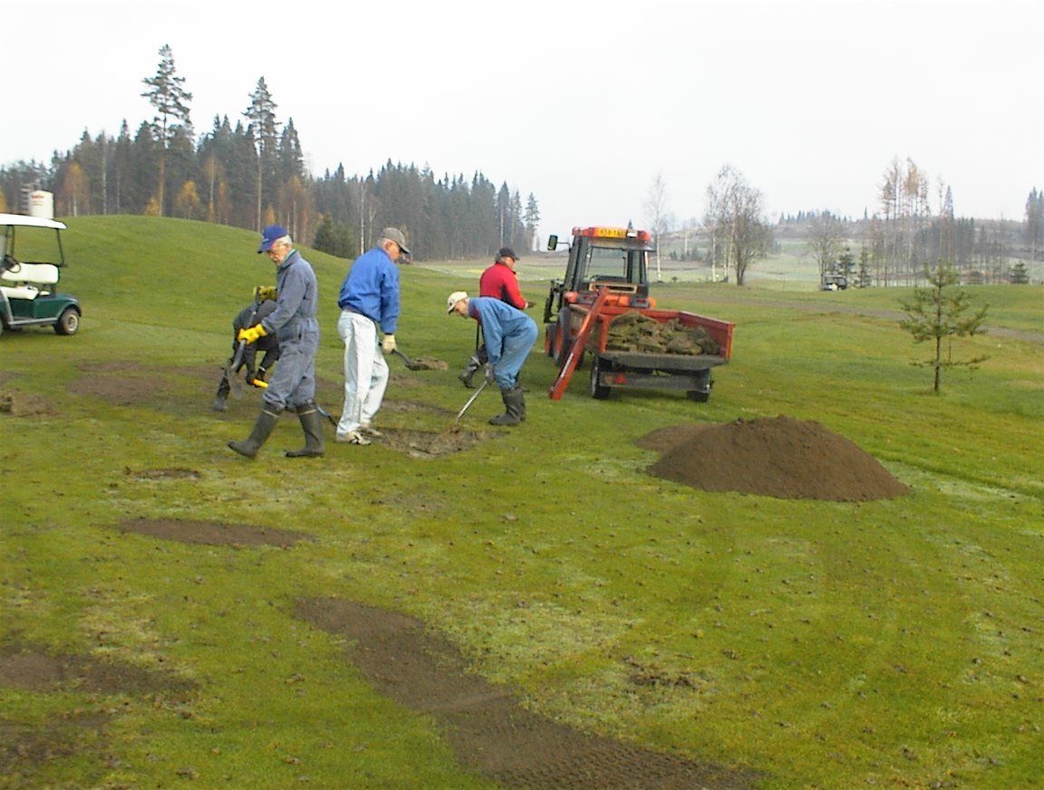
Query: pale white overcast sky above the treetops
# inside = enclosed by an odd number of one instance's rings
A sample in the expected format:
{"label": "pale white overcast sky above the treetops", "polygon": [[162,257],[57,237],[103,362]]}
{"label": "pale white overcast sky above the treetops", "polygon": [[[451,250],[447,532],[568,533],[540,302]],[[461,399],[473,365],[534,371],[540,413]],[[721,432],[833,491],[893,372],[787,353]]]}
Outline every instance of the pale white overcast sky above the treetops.
{"label": "pale white overcast sky above the treetops", "polygon": [[2,11],[0,164],[150,119],[167,44],[197,135],[263,76],[316,175],[388,160],[481,171],[540,234],[675,224],[726,164],[767,215],[861,217],[894,158],[959,216],[1021,220],[1044,189],[1044,11],[1015,0],[200,3],[21,0]]}

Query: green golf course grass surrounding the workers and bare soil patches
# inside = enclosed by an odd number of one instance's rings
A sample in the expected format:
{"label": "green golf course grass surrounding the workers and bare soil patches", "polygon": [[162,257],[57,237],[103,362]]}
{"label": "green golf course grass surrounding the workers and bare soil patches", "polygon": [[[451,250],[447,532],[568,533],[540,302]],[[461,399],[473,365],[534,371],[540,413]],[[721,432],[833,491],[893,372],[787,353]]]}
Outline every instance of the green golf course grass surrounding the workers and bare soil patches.
{"label": "green golf course grass surrounding the workers and bare soil patches", "polygon": [[[891,315],[908,289],[680,280],[656,287],[661,306],[736,322],[706,404],[594,401],[585,372],[551,402],[556,368],[535,350],[528,420],[471,449],[330,441],[323,459],[291,460],[281,451],[302,436],[284,416],[252,462],[226,441],[246,435],[257,393],[209,406],[232,318],[274,282],[257,236],[68,224],[63,287],[84,304],[80,334],[0,336],[0,392],[45,404],[0,413],[0,786],[496,787],[432,715],[367,683],[343,639],[295,616],[316,597],[424,621],[531,712],[754,772],[759,788],[1044,782],[1041,288],[968,289],[989,326],[1026,334],[958,341],[956,356],[989,360],[932,394],[931,372],[910,364],[928,351]],[[324,305],[318,401],[336,414],[348,262],[305,254]],[[381,427],[444,431],[464,404],[474,326],[447,317],[445,296],[483,265],[402,268],[400,346],[449,369],[390,362]],[[554,260],[521,271],[543,305]],[[500,410],[483,393],[465,427]],[[910,494],[712,494],[649,476],[658,456],[635,444],[781,414],[851,439]],[[189,545],[124,528],[141,519],[309,540]],[[30,650],[150,685],[19,683]],[[636,683],[636,667],[674,681]]]}

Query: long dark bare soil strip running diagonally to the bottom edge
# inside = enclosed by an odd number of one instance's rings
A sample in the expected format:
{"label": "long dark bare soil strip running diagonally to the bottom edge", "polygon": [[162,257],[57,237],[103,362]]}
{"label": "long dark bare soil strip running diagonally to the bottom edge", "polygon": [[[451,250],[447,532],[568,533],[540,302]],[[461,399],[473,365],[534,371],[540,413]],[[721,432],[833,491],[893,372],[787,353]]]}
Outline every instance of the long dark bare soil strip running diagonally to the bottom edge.
{"label": "long dark bare soil strip running diagonally to the bottom edge", "polygon": [[692,790],[751,787],[756,779],[537,716],[511,689],[469,672],[447,640],[405,615],[330,598],[301,600],[296,614],[352,640],[352,662],[381,694],[432,716],[464,765],[504,787]]}

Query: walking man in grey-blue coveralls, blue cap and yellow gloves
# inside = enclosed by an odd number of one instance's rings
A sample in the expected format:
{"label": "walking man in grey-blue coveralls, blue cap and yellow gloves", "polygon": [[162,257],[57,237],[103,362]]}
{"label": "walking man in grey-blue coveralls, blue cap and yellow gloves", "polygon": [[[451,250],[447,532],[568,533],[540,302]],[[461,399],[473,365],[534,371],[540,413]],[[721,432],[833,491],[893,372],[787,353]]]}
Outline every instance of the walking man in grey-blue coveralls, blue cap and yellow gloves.
{"label": "walking man in grey-blue coveralls, blue cap and yellow gloves", "polygon": [[288,450],[288,458],[323,455],[323,420],[315,405],[315,354],[319,348],[319,324],[315,319],[317,287],[315,271],[296,249],[281,225],[268,225],[261,234],[258,254],[267,253],[276,264],[276,309],[253,327],[239,331],[247,343],[274,334],[279,340],[279,364],[262,397],[261,413],[250,437],[230,441],[240,455],[253,458],[267,441],[284,409],[298,412],[305,432],[305,447]]}

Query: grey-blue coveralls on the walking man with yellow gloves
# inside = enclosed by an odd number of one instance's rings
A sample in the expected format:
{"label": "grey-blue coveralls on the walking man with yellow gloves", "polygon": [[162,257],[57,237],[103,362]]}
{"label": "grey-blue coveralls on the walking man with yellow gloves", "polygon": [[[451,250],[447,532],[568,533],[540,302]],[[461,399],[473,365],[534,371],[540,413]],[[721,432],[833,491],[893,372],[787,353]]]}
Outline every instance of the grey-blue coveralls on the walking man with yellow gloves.
{"label": "grey-blue coveralls on the walking man with yellow gloves", "polygon": [[279,339],[279,364],[264,390],[266,410],[279,413],[315,399],[315,354],[319,322],[315,318],[318,287],[315,271],[296,249],[276,270],[276,310],[261,326]]}

